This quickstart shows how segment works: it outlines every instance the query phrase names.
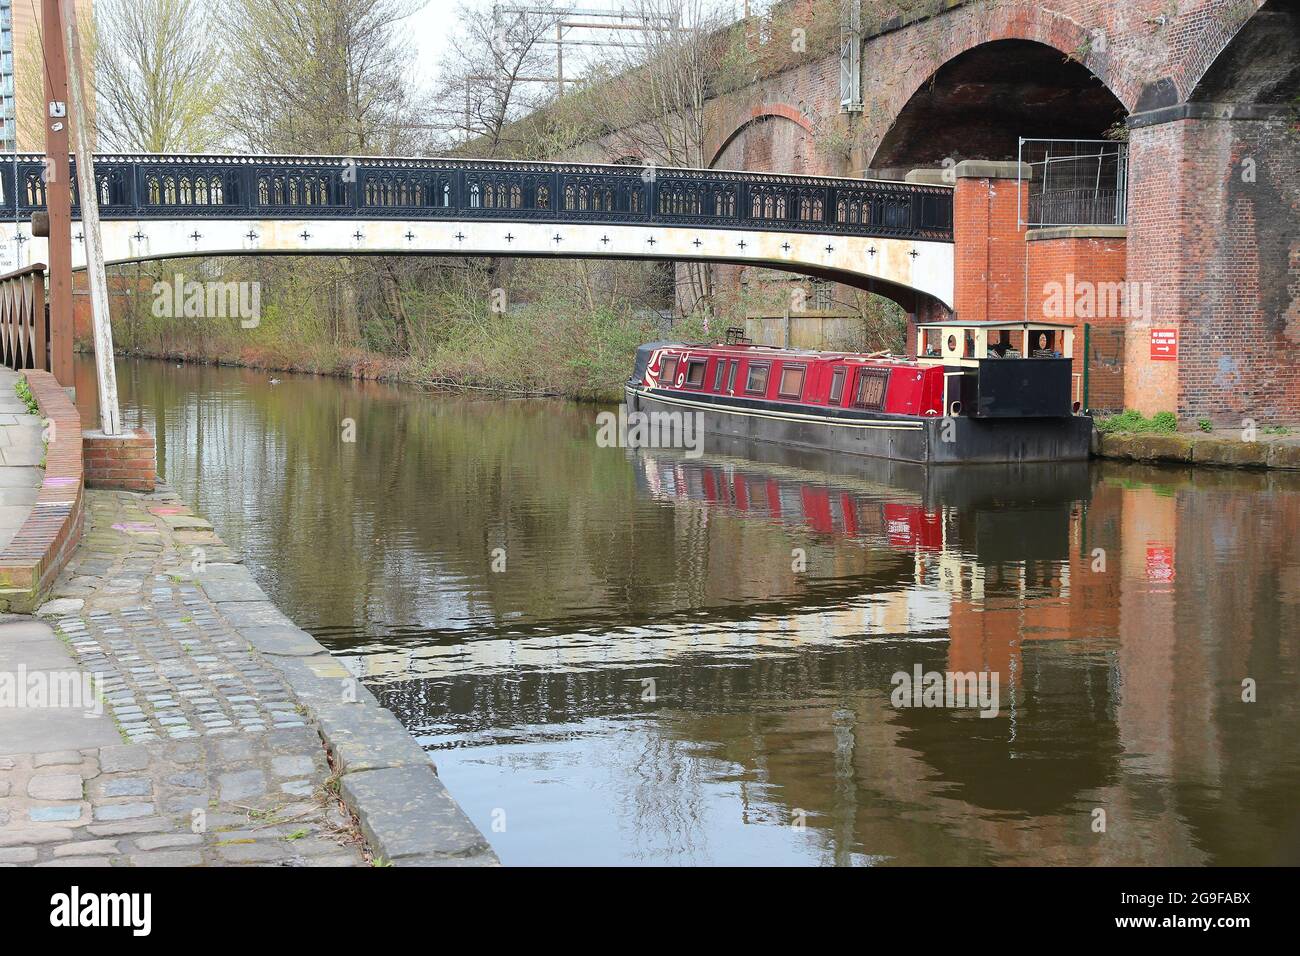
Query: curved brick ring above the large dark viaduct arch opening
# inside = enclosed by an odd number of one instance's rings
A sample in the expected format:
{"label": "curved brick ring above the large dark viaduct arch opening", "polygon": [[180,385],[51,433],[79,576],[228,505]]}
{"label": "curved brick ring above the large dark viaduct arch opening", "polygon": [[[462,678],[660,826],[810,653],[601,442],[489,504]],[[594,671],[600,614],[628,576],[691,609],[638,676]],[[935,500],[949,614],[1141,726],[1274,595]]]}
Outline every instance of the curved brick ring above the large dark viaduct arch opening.
{"label": "curved brick ring above the large dark viaduct arch opening", "polygon": [[[1086,49],[1093,39],[1092,29],[1054,10],[1041,7],[961,7],[936,17],[924,25],[910,27],[924,31],[924,36],[914,35],[909,44],[909,66],[901,74],[888,81],[885,88],[867,88],[863,95],[871,120],[866,130],[863,155],[875,156],[885,134],[893,127],[900,113],[944,64],[967,53],[976,47],[994,40],[1028,40],[1052,47],[1062,57],[1072,56]],[[900,31],[905,33],[905,31]],[[863,55],[866,62],[872,60],[872,46],[892,44],[900,33],[884,34],[868,42]],[[916,53],[928,53],[922,56]],[[1089,51],[1083,57],[1086,66],[1121,101],[1126,111],[1132,112],[1141,92],[1141,85],[1124,78],[1115,59],[1102,51]],[[874,72],[868,68],[868,82]]]}

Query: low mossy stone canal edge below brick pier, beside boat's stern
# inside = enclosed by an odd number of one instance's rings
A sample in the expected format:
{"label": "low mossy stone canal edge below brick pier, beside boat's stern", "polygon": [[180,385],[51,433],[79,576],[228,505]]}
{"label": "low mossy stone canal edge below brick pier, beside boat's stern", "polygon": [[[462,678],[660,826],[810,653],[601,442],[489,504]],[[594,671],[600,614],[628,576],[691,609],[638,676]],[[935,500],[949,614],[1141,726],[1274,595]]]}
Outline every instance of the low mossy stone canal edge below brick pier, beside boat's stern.
{"label": "low mossy stone canal edge below brick pier, beside boat's stern", "polygon": [[1300,471],[1300,438],[1243,441],[1222,434],[1188,432],[1092,431],[1093,458],[1161,462],[1212,468]]}

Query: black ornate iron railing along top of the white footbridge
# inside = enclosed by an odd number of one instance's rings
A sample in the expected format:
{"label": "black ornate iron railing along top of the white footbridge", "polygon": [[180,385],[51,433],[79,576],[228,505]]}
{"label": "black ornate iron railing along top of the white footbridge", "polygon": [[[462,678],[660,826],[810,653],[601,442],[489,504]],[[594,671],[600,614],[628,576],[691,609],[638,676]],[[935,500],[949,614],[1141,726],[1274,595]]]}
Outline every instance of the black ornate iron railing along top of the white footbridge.
{"label": "black ornate iron railing along top of the white footbridge", "polygon": [[[44,208],[43,172],[40,153],[0,160],[3,204],[17,217]],[[953,238],[952,189],[876,179],[569,163],[117,153],[96,156],[95,178],[107,220],[481,219]],[[75,216],[75,191],[73,202]]]}

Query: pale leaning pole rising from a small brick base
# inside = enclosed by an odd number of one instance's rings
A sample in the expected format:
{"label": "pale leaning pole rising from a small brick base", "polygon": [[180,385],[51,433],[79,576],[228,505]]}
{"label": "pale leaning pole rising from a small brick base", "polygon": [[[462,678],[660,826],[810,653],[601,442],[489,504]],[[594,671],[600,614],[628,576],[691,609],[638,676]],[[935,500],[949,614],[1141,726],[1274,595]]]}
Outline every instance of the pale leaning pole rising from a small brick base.
{"label": "pale leaning pole rising from a small brick base", "polygon": [[86,94],[81,75],[81,43],[73,0],[62,0],[68,38],[68,87],[72,121],[77,125],[77,182],[81,195],[82,235],[86,245],[86,277],[90,282],[91,319],[95,328],[95,369],[99,378],[99,424],[104,434],[120,434],[122,414],[117,407],[117,369],[113,368],[113,328],[108,315],[108,280],[104,276],[104,246],[99,234],[99,187],[95,155],[86,122]]}

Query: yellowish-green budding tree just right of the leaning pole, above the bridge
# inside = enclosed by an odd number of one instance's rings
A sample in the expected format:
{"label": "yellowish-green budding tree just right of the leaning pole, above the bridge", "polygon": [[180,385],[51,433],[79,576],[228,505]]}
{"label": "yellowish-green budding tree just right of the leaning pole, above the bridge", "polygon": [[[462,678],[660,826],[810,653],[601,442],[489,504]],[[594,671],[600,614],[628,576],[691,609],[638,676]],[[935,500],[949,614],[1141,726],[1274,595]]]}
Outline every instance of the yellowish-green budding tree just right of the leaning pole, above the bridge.
{"label": "yellowish-green budding tree just right of the leaning pole, above the bridge", "polygon": [[202,0],[100,0],[95,78],[104,146],[202,152],[221,139],[220,52]]}

